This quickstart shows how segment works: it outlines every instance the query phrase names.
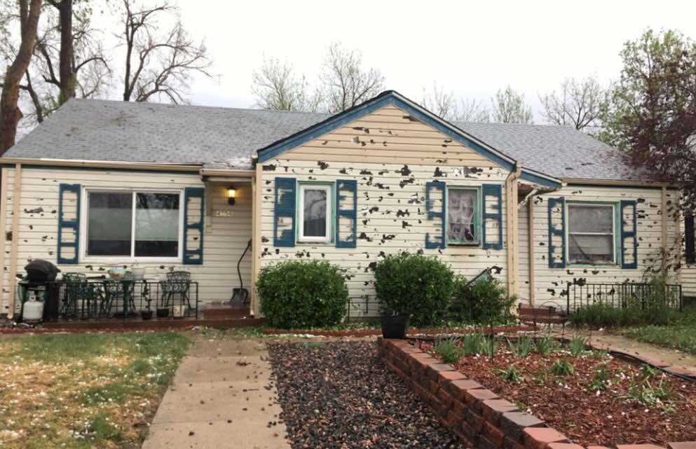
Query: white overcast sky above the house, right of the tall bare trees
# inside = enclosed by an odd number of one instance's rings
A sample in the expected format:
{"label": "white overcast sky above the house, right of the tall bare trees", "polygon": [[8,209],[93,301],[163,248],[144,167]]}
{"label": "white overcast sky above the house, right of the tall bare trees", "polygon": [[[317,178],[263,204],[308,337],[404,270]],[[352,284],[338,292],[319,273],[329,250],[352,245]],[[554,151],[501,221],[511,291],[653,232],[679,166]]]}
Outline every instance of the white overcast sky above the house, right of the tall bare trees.
{"label": "white overcast sky above the house, right of the tall bare trees", "polygon": [[[179,0],[205,38],[212,79],[196,78],[194,104],[252,107],[252,71],[287,59],[308,80],[332,41],[360,50],[388,89],[421,99],[432,83],[489,103],[510,84],[538,109],[564,78],[616,78],[622,44],[646,27],[696,38],[694,0],[212,1]],[[536,111],[535,111],[536,112]],[[541,118],[536,115],[536,121]]]}

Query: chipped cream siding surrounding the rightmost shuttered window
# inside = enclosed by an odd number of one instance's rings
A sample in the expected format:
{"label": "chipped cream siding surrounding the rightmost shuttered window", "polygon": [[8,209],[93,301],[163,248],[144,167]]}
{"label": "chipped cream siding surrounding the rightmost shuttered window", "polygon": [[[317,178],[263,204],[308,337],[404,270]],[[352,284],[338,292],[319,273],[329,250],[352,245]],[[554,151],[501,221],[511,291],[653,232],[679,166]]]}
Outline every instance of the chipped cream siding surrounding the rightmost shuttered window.
{"label": "chipped cream siding surrounding the rightmost shuttered window", "polygon": [[[581,202],[614,202],[617,205],[622,200],[635,200],[637,202],[637,238],[638,238],[638,267],[636,269],[620,268],[619,265],[573,265],[566,263],[565,268],[549,268],[549,223],[548,223],[548,199],[565,198],[566,204],[573,201]],[[671,201],[674,191],[667,192],[667,244],[674,244],[676,238],[676,222],[671,214]],[[560,191],[535,196],[531,199],[534,205],[534,293],[535,305],[544,305],[547,301],[554,301],[565,307],[567,283],[574,280],[585,282],[641,282],[648,274],[648,268],[657,270],[659,275],[660,248],[662,247],[662,191],[659,188],[632,188],[632,187],[606,187],[606,186],[573,186],[568,185]],[[526,209],[526,207],[524,208]],[[521,212],[521,216],[525,212]],[[520,245],[524,245],[522,235],[527,233],[526,218],[519,219]],[[566,215],[567,228],[567,215]],[[557,243],[554,242],[554,245]],[[567,242],[566,242],[567,250]],[[557,249],[560,251],[560,249]],[[520,257],[521,291],[528,278],[522,273],[528,272],[524,266],[526,254]],[[619,258],[620,260],[620,258]],[[674,267],[670,268],[669,275],[672,281],[678,276]]]}

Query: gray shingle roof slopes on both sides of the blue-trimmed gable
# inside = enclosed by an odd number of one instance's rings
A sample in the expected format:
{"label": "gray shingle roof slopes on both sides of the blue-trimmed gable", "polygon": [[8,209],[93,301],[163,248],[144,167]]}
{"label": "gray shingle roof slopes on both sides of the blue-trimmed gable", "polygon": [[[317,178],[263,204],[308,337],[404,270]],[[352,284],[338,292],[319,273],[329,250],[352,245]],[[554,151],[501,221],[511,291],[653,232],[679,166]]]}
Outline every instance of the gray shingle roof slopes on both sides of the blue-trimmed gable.
{"label": "gray shingle roof slopes on both sides of the blue-trimmed gable", "polygon": [[[251,156],[314,125],[321,113],[73,99],[5,156],[248,168]],[[636,179],[618,152],[571,127],[455,123],[519,160],[562,179]]]}

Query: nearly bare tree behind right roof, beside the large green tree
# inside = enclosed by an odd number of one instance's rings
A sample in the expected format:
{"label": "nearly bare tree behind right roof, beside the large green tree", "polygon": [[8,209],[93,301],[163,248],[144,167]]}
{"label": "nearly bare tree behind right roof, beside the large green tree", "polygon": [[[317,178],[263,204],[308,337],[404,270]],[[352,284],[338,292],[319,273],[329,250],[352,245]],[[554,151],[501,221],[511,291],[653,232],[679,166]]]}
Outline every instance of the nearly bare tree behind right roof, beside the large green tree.
{"label": "nearly bare tree behind right roof, beside the large green tree", "polygon": [[576,130],[596,130],[606,101],[606,91],[594,76],[566,78],[561,88],[539,95],[541,114],[553,125],[571,125]]}

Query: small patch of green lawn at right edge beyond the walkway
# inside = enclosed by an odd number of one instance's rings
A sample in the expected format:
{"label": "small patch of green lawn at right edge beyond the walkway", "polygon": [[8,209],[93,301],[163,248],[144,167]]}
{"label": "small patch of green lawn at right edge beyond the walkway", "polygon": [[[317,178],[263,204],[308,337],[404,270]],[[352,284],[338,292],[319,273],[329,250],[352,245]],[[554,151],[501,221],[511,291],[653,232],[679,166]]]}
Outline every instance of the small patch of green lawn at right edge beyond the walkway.
{"label": "small patch of green lawn at right edge beyond the walkway", "polygon": [[620,333],[643,343],[696,354],[696,305],[685,308],[681,319],[670,326],[641,326],[622,329]]}

